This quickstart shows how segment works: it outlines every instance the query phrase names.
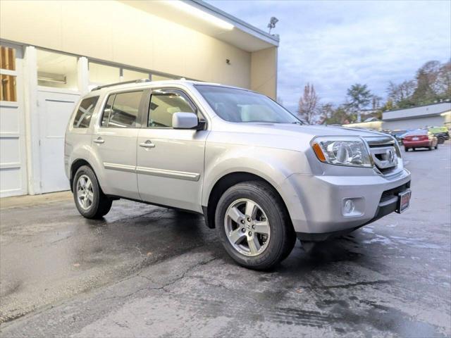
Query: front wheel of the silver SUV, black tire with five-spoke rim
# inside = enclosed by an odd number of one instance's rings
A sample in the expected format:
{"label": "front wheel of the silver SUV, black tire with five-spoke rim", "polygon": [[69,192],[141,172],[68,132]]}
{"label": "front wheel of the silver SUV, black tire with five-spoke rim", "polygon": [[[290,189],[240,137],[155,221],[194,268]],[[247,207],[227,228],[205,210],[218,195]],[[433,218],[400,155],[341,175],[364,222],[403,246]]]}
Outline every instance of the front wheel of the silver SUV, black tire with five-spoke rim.
{"label": "front wheel of the silver SUV, black tire with five-spoke rim", "polygon": [[216,206],[216,231],[238,264],[268,270],[286,258],[296,234],[282,199],[266,182],[235,184]]}

